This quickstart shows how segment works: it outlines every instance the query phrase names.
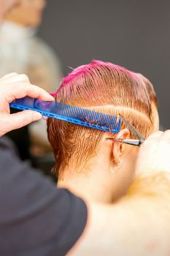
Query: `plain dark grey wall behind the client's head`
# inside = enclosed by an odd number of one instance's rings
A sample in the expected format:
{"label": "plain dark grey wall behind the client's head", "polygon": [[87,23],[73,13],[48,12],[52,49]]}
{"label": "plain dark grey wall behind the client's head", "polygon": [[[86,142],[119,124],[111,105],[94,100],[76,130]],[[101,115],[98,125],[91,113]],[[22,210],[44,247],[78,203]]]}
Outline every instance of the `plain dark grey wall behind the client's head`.
{"label": "plain dark grey wall behind the client's head", "polygon": [[170,1],[49,0],[39,35],[64,75],[92,59],[141,72],[158,94],[161,124],[170,127]]}

